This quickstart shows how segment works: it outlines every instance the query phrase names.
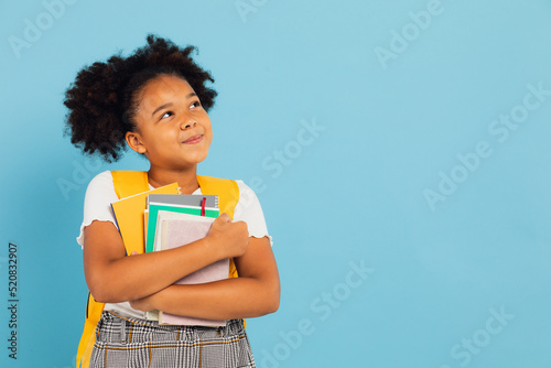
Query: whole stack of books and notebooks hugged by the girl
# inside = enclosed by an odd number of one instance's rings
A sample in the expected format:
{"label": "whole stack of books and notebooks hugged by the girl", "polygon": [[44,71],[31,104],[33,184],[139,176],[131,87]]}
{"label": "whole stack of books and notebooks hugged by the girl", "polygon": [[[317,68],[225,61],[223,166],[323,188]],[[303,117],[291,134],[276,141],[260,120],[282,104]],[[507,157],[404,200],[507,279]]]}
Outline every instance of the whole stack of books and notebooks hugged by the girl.
{"label": "whole stack of books and notebooks hugged by the girl", "polygon": [[[218,196],[177,194],[177,183],[143,192],[111,204],[125,247],[130,253],[163,251],[207,236],[219,215]],[[196,284],[228,278],[229,260],[223,259],[179,280]],[[165,325],[225,326],[226,321],[203,320],[152,311],[148,320]]]}

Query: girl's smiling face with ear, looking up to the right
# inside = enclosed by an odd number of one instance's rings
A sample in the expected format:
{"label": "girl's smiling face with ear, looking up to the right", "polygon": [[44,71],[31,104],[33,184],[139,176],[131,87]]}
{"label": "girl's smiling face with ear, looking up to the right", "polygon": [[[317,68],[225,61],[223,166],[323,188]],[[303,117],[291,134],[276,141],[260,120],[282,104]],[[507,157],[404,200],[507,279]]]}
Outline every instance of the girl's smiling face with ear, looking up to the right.
{"label": "girl's smiling face with ear, looking up to the right", "polygon": [[143,87],[138,129],[127,133],[130,148],[145,154],[151,166],[182,170],[205,160],[213,140],[210,119],[190,84],[161,75]]}

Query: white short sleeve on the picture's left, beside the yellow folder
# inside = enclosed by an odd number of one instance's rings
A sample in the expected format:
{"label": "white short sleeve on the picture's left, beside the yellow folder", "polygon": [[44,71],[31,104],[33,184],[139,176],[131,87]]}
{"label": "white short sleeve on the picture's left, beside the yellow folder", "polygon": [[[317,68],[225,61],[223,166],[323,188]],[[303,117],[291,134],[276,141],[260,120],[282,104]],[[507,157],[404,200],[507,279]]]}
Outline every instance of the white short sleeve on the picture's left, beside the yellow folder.
{"label": "white short sleeve on the picture's left, beside the yellow folder", "polygon": [[80,225],[80,234],[76,238],[80,247],[84,246],[84,228],[94,220],[111,221],[117,226],[111,210],[111,203],[118,199],[110,171],[104,171],[90,181],[84,198],[84,218]]}

